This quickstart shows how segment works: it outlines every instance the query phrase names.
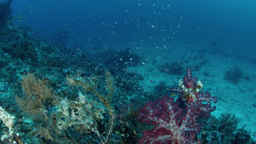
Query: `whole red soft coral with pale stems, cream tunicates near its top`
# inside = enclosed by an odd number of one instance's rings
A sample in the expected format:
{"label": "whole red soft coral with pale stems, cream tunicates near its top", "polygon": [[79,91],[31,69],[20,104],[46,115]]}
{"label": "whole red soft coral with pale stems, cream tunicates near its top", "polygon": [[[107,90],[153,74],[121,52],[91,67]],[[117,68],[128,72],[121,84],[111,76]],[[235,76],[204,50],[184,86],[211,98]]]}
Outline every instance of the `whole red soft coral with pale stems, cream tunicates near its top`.
{"label": "whole red soft coral with pale stems, cream tunicates near its top", "polygon": [[[186,88],[196,88],[197,78],[191,76],[191,69],[184,77]],[[193,90],[194,90],[193,89]],[[181,88],[172,88],[171,91],[179,92],[180,95],[174,102],[174,98],[164,96],[148,102],[140,108],[137,120],[147,122],[154,126],[152,130],[143,132],[139,144],[190,144],[194,142],[194,136],[200,130],[201,124],[197,122],[199,117],[208,118],[216,109],[210,101],[216,102],[209,92],[194,92],[195,100],[184,101],[184,92]],[[191,90],[192,91],[192,90]]]}

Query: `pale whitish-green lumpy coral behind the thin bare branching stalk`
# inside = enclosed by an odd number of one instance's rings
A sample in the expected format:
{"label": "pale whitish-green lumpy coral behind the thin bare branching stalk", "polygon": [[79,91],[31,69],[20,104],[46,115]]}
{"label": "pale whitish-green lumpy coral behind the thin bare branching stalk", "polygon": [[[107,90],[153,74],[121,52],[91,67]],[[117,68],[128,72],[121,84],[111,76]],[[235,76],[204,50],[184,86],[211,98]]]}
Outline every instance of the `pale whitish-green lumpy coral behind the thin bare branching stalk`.
{"label": "pale whitish-green lumpy coral behind the thin bare branching stalk", "polygon": [[104,112],[101,103],[91,100],[78,92],[79,101],[62,100],[56,106],[57,128],[62,130],[70,126],[83,125],[88,130],[94,127],[94,118],[103,119]]}

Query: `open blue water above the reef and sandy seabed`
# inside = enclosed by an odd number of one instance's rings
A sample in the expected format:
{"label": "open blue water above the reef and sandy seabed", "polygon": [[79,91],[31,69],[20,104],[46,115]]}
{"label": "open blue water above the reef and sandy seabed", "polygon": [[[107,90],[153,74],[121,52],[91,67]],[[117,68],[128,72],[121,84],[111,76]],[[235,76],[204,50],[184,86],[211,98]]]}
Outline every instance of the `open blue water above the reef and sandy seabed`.
{"label": "open blue water above the reef and sandy seabed", "polygon": [[32,26],[37,36],[49,39],[61,31],[68,35],[68,45],[160,42],[254,57],[255,4],[253,0],[14,0],[12,8],[13,16],[25,16],[22,23]]}

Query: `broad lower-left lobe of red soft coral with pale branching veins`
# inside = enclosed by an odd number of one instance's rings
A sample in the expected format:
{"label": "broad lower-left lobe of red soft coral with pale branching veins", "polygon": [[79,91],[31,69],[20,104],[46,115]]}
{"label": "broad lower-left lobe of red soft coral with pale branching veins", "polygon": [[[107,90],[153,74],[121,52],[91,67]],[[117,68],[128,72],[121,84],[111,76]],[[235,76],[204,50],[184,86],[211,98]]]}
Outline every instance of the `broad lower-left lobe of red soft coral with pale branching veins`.
{"label": "broad lower-left lobe of red soft coral with pale branching veins", "polygon": [[[140,144],[188,144],[191,142],[185,132],[198,132],[198,127],[192,127],[185,122],[190,116],[184,114],[183,108],[173,102],[174,98],[164,96],[140,108],[137,120],[147,122],[154,129],[143,132]],[[188,109],[187,109],[188,110]],[[185,110],[186,111],[186,110]],[[180,120],[184,122],[180,123]]]}

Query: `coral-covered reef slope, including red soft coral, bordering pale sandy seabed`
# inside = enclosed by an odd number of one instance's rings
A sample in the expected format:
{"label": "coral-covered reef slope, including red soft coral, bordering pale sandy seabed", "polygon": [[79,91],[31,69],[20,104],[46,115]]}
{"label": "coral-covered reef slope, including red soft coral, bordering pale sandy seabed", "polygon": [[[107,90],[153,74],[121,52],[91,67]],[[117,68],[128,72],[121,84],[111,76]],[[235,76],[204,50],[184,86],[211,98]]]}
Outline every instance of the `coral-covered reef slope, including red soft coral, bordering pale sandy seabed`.
{"label": "coral-covered reef slope, including red soft coral, bordering pale sandy seabed", "polygon": [[[145,86],[160,60],[153,58],[154,66],[145,65],[147,73],[140,73],[129,68],[142,63],[131,49],[108,50],[104,44],[65,48],[69,36],[57,40],[65,31],[46,43],[33,36],[30,26],[6,20],[0,26],[0,143],[253,143],[250,130],[236,129],[233,114],[210,115],[216,97],[202,91],[203,83],[192,77],[191,69],[177,87],[167,79]],[[181,59],[160,70],[178,77],[185,66],[181,63],[192,60]],[[206,63],[192,68],[200,70]]]}

